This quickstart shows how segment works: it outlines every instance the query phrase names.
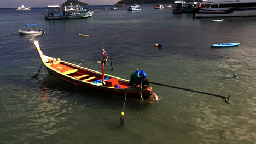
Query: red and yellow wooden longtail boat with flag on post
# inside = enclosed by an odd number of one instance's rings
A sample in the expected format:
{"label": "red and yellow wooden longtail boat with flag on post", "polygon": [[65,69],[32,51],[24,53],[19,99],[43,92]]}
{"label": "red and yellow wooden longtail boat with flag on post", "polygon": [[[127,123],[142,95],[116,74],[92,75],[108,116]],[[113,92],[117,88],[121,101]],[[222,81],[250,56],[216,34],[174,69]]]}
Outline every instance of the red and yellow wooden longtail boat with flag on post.
{"label": "red and yellow wooden longtail boat with flag on post", "polygon": [[[39,57],[45,68],[48,70],[48,73],[53,74],[64,81],[103,92],[123,96],[127,95],[127,97],[148,101],[158,100],[158,96],[152,92],[152,87],[148,86],[148,82],[147,85],[142,85],[142,80],[144,79],[141,79],[141,85],[137,85],[136,83],[131,83],[131,81],[121,79],[120,77],[104,74],[104,65],[106,65],[108,56],[103,48],[102,61],[100,62],[102,72],[98,72],[62,61],[60,58],[46,56],[41,51],[38,41],[34,41],[34,44],[36,45]],[[137,70],[136,74],[133,75],[137,75],[137,72],[141,71]]]}

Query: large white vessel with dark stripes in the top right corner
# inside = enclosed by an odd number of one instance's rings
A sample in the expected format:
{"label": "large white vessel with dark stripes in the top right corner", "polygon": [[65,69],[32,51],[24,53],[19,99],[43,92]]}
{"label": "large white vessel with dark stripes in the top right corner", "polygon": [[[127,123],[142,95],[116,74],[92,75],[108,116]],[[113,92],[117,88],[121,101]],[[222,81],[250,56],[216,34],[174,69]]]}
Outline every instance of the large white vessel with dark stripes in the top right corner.
{"label": "large white vessel with dark stripes in the top right corner", "polygon": [[256,16],[255,0],[204,0],[196,17]]}

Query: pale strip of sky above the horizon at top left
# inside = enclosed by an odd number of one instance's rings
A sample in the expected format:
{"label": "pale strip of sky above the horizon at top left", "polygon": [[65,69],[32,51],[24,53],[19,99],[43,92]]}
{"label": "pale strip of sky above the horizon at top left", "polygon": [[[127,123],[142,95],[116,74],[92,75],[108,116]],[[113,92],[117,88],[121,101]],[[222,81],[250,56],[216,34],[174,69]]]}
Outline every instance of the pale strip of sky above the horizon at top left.
{"label": "pale strip of sky above the horizon at top left", "polygon": [[[89,5],[114,5],[119,0],[79,0]],[[62,5],[66,0],[0,0],[0,8],[13,8],[25,5],[28,7],[47,7]]]}

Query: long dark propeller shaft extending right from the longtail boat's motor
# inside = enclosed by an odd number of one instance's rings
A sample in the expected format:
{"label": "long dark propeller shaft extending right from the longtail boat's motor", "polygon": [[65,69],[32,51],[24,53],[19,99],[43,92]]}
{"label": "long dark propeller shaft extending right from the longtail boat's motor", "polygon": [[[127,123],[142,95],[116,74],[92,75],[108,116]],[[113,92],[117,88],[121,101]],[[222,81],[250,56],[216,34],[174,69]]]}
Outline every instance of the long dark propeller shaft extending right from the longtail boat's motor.
{"label": "long dark propeller shaft extending right from the longtail boat's motor", "polygon": [[[187,89],[187,88],[182,88],[182,87],[175,87],[175,86],[165,85],[165,84],[162,84],[162,83],[156,83],[156,82],[149,82],[149,83],[152,83],[152,84],[154,84],[154,85],[159,85],[159,86],[165,86],[165,87],[171,87],[171,88],[182,89],[182,90],[184,90],[184,91],[190,91],[190,92],[195,92],[195,93],[202,93],[202,94],[212,95],[212,96],[214,96],[214,97],[222,98],[222,100],[223,100],[225,103],[230,104],[230,103],[228,102],[228,101],[229,101],[230,94],[229,94],[228,97],[225,97],[225,96],[222,96],[222,95],[211,94],[211,93],[205,93],[205,92],[195,91],[195,90],[193,90],[193,89]],[[231,104],[230,104],[230,105],[231,105]]]}

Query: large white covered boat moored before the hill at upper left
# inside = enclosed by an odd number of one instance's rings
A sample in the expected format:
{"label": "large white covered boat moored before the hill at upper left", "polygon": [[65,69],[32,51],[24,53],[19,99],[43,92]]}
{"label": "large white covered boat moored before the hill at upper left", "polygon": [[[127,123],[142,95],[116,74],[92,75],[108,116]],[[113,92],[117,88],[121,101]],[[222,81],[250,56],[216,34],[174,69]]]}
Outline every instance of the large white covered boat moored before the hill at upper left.
{"label": "large white covered boat moored before the hill at upper left", "polygon": [[83,7],[49,5],[44,13],[45,19],[79,19],[91,17],[94,11],[84,9]]}

